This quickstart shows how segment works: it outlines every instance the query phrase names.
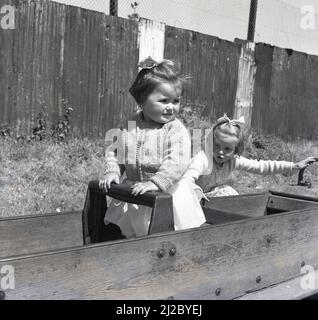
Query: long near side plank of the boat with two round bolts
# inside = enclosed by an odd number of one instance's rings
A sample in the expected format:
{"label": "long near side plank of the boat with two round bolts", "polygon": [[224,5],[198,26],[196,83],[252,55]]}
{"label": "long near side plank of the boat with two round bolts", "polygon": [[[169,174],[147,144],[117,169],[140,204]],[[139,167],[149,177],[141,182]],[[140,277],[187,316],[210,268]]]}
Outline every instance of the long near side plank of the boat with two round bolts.
{"label": "long near side plank of the boat with two round bolts", "polygon": [[7,299],[233,299],[300,276],[302,263],[316,267],[317,241],[318,210],[308,209],[4,259],[0,267],[15,270]]}

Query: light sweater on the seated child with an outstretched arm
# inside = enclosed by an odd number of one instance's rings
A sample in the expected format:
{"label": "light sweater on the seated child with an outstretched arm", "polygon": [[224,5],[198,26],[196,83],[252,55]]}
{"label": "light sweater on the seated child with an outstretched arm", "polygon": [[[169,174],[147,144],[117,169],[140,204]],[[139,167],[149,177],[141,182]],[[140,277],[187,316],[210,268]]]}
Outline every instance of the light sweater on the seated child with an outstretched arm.
{"label": "light sweater on the seated child with an outstretched arm", "polygon": [[203,151],[197,153],[191,160],[191,163],[184,174],[197,189],[203,192],[209,192],[213,188],[225,184],[233,170],[243,170],[256,174],[275,174],[292,173],[293,162],[272,161],[272,160],[253,160],[242,156],[234,156],[222,166],[213,162],[212,172],[209,172],[209,160]]}

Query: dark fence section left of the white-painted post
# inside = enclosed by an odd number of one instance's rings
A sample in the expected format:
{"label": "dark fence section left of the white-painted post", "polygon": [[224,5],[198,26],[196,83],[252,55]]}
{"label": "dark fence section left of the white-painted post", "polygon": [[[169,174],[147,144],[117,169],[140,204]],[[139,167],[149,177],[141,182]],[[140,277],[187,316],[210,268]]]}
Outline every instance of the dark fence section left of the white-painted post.
{"label": "dark fence section left of the white-painted post", "polygon": [[26,134],[39,112],[51,126],[66,106],[75,135],[98,137],[132,112],[137,22],[46,0],[9,3],[16,29],[0,30],[2,122]]}

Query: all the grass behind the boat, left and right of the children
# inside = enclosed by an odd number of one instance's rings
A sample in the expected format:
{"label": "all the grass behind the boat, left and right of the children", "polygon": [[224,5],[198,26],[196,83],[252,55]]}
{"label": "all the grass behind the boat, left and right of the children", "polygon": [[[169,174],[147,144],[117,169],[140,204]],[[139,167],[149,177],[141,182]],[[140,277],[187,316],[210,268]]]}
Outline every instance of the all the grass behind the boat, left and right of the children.
{"label": "all the grass behind the boat, left and right of the children", "polygon": [[[318,145],[254,134],[248,139],[244,155],[299,161],[310,155],[318,156]],[[88,182],[103,174],[104,143],[86,138],[62,143],[52,139],[16,141],[0,136],[0,163],[0,216],[81,210]],[[318,165],[307,171],[313,186],[318,187]],[[236,172],[229,181],[240,193],[290,183],[297,183],[297,174],[259,176]]]}

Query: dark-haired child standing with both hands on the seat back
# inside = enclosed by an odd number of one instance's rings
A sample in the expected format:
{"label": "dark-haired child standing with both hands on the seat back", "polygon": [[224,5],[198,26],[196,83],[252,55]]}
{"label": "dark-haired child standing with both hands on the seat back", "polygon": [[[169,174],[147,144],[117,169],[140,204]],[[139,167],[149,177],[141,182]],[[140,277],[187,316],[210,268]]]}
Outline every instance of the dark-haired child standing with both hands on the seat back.
{"label": "dark-haired child standing with both hands on the seat back", "polygon": [[[158,190],[172,193],[191,157],[189,132],[176,119],[186,78],[170,60],[156,62],[149,57],[139,66],[141,70],[129,92],[141,111],[128,119],[133,122],[119,137],[120,151],[126,151],[123,159],[119,159],[118,149],[117,157],[107,153],[106,175],[100,188],[107,191],[112,182],[119,183],[125,172],[124,183],[131,185],[134,195]],[[146,235],[151,211],[149,207],[113,200],[105,223],[119,226],[127,238]]]}

